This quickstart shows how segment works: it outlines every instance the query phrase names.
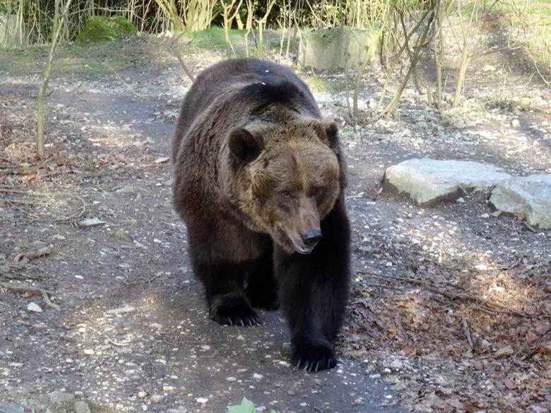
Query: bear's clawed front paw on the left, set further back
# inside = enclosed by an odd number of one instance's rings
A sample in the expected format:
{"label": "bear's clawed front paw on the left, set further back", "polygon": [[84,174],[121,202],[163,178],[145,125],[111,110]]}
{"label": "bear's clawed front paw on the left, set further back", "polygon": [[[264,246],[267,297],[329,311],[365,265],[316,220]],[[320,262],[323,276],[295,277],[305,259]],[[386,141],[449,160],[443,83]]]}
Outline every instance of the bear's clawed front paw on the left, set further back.
{"label": "bear's clawed front paw on the left, set further back", "polygon": [[213,297],[208,316],[222,325],[249,327],[260,324],[259,316],[242,297]]}

